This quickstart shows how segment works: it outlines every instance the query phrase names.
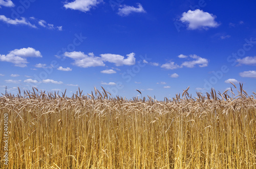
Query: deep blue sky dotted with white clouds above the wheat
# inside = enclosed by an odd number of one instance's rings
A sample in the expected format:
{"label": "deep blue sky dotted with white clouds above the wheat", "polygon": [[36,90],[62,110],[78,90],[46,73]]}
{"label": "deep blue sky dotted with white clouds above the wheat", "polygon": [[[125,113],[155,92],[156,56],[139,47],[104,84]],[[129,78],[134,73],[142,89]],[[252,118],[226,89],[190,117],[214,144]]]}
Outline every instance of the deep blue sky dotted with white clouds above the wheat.
{"label": "deep blue sky dotted with white clouds above the wheat", "polygon": [[0,0],[0,92],[256,91],[256,2]]}

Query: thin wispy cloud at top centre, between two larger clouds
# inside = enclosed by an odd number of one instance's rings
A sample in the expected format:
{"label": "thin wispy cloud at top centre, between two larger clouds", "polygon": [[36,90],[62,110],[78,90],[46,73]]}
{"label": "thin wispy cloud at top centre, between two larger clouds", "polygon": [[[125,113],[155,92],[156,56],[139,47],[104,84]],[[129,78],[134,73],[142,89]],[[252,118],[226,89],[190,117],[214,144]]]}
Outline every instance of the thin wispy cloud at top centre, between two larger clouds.
{"label": "thin wispy cloud at top centre, between two larger clouds", "polygon": [[128,16],[131,13],[146,13],[146,11],[143,9],[142,5],[137,3],[138,8],[134,6],[126,6],[123,5],[121,8],[118,9],[118,15],[120,16]]}

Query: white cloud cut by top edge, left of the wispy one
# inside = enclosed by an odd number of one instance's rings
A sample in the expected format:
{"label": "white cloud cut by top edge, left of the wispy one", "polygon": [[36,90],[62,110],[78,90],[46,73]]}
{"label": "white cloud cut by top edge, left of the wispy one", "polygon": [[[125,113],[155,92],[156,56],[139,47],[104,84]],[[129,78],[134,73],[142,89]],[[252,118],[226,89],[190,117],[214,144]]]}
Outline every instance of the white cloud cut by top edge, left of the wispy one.
{"label": "white cloud cut by top edge, left of the wispy one", "polygon": [[74,2],[66,3],[64,7],[66,9],[79,10],[86,13],[101,2],[101,0],[75,0]]}

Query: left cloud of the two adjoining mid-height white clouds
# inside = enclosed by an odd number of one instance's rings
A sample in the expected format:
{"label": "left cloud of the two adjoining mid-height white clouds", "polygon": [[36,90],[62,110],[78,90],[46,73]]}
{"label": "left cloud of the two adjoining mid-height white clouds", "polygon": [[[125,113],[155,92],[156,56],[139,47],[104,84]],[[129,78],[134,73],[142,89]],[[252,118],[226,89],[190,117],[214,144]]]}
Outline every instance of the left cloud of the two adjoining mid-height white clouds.
{"label": "left cloud of the two adjoining mid-height white clouds", "polygon": [[96,66],[105,66],[100,57],[95,57],[93,53],[84,54],[81,51],[65,52],[66,57],[72,58],[75,62],[73,65],[88,68]]}

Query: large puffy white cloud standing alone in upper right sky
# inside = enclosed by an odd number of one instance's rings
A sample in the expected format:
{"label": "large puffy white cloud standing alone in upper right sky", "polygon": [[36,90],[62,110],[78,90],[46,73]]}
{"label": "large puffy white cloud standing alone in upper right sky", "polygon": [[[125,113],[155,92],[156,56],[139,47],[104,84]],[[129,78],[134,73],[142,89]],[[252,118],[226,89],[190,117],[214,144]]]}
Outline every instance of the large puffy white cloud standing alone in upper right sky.
{"label": "large puffy white cloud standing alone in upper right sky", "polygon": [[208,29],[208,27],[218,27],[219,23],[215,21],[216,16],[196,9],[195,11],[188,10],[182,14],[180,20],[188,23],[188,29]]}

